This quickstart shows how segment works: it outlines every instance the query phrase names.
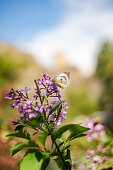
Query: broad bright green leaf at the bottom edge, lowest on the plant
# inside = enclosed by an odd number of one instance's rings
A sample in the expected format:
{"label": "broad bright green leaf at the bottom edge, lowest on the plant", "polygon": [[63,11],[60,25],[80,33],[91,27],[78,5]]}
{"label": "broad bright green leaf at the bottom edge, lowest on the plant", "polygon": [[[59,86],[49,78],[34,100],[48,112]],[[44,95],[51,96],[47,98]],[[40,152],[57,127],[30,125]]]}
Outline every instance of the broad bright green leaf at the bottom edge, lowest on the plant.
{"label": "broad bright green leaf at the bottom edge, lowest on the plant", "polygon": [[38,149],[29,149],[20,163],[20,170],[45,170],[49,164],[49,157],[45,155]]}

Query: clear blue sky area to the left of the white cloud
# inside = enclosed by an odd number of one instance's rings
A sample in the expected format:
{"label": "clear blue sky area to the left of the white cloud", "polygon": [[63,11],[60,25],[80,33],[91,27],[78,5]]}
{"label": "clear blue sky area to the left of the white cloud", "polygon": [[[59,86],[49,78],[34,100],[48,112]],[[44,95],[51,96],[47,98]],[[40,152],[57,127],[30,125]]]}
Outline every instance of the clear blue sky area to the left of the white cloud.
{"label": "clear blue sky area to the left of the white cloud", "polygon": [[38,31],[56,26],[63,4],[53,0],[0,0],[0,38],[29,40]]}

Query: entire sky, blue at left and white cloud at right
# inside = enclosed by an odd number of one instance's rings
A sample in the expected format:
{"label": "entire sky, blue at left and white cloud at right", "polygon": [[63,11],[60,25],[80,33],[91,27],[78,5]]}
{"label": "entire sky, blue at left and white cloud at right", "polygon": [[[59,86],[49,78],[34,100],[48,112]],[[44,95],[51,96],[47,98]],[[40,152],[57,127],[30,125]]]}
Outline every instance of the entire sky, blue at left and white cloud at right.
{"label": "entire sky, blue at left and white cloud at right", "polygon": [[0,41],[30,53],[45,68],[55,56],[93,73],[101,44],[113,41],[113,0],[0,0]]}

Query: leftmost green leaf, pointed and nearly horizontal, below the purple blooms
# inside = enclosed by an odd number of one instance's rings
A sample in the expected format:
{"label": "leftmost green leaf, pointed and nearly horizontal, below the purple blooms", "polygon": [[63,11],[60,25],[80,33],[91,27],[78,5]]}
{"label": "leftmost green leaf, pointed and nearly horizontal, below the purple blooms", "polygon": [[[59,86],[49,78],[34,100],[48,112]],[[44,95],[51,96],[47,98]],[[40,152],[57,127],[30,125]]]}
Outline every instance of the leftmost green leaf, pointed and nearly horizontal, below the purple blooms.
{"label": "leftmost green leaf, pointed and nearly horizontal, below the purple blooms", "polygon": [[26,131],[26,130],[17,130],[15,132],[12,132],[8,135],[6,135],[6,137],[18,137],[18,138],[24,138],[24,139],[28,139],[30,140],[30,134]]}

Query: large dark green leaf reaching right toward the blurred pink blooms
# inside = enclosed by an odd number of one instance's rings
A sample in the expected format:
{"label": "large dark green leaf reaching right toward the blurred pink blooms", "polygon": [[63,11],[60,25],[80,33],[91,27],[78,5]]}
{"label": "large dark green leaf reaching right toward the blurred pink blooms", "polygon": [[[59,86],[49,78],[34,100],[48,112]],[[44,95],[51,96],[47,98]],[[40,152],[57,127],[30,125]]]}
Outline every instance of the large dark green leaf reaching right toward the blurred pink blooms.
{"label": "large dark green leaf reaching right toward the blurred pink blooms", "polygon": [[[71,131],[72,129],[72,131]],[[60,138],[62,136],[62,134],[64,132],[66,132],[67,130],[70,130],[71,131],[71,134],[68,136],[68,140],[70,140],[71,138],[73,138],[74,136],[75,137],[79,137],[79,135],[81,135],[83,132],[86,132],[89,130],[89,128],[85,128],[83,126],[80,126],[79,124],[69,124],[69,125],[65,125],[65,126],[62,126],[60,127],[59,129],[57,130],[54,130],[52,133],[51,133],[51,136],[52,136],[52,140],[53,142],[57,139],[57,138]],[[74,133],[73,133],[74,132]]]}

